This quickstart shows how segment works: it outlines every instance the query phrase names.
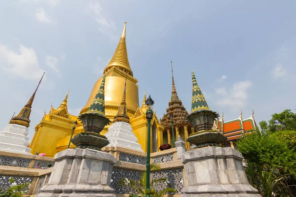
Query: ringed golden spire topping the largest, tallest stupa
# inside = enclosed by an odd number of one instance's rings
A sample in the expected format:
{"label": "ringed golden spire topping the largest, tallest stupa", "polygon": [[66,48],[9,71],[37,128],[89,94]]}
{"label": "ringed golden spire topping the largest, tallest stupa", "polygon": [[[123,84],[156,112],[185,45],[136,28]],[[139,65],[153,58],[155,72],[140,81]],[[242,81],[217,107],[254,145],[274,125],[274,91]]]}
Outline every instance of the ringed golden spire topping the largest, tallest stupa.
{"label": "ringed golden spire topping the largest, tallest stupa", "polygon": [[124,28],[123,28],[119,43],[117,45],[117,48],[115,50],[115,53],[110,63],[108,64],[108,66],[106,66],[104,73],[106,73],[106,71],[111,69],[111,67],[115,66],[115,67],[119,67],[119,69],[133,76],[133,71],[131,70],[131,67],[129,65],[128,58],[127,58],[125,29],[126,29],[126,22],[124,22]]}

